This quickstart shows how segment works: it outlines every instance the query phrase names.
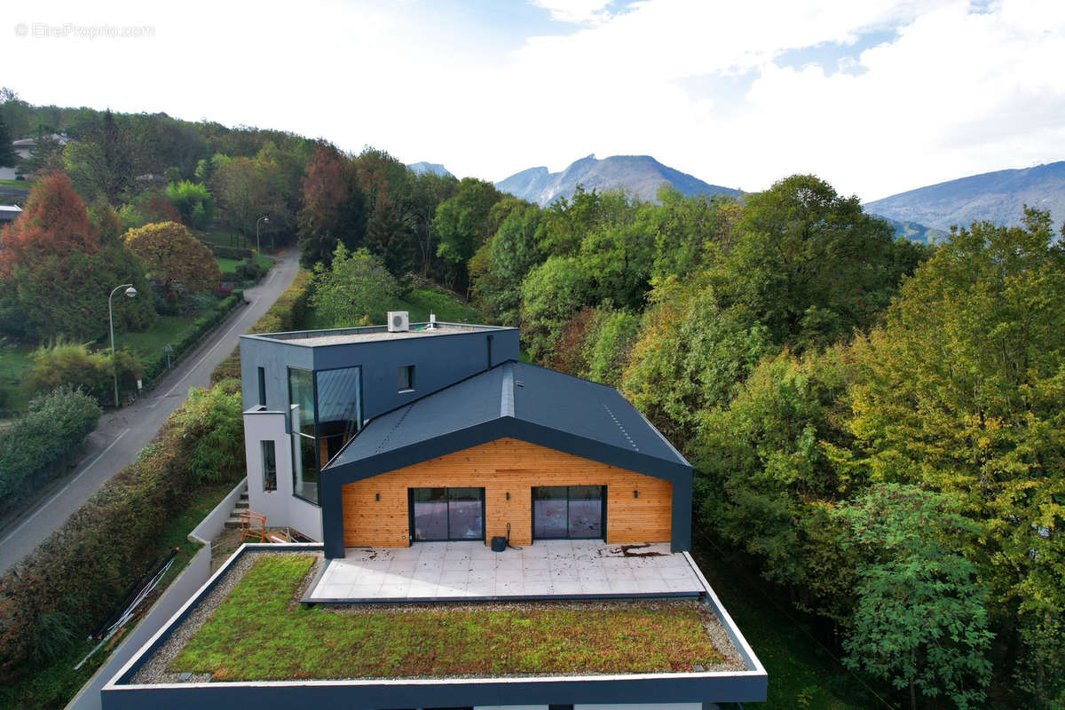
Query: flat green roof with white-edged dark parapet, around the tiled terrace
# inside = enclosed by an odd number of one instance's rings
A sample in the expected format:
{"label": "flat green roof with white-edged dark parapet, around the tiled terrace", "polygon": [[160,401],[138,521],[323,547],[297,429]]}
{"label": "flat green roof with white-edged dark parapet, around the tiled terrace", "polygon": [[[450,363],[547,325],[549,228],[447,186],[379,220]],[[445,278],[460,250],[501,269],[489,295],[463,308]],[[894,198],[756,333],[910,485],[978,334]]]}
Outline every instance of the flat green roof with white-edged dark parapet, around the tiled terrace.
{"label": "flat green roof with white-edged dark parapet, around the tiled terrace", "polygon": [[765,668],[698,568],[699,599],[308,610],[320,549],[243,546],[104,686],[104,710],[766,698]]}

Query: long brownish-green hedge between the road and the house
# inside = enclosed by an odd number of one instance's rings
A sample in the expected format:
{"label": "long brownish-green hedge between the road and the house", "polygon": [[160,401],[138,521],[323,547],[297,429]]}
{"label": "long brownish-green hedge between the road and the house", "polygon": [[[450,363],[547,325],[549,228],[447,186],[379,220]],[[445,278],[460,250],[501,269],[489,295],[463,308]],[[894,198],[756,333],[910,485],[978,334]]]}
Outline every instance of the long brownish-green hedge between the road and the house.
{"label": "long brownish-green hedge between the road and the house", "polygon": [[[309,277],[300,269],[251,332],[295,328],[306,312]],[[239,377],[233,364],[231,357],[222,367]],[[190,406],[197,404],[186,402],[171,414],[135,463],[0,577],[0,682],[30,670],[55,620],[68,620],[73,637],[84,638],[151,560],[167,521],[183,511],[198,485],[191,462],[199,437],[181,424],[197,418],[185,416]],[[234,461],[233,469],[243,472],[243,460]]]}

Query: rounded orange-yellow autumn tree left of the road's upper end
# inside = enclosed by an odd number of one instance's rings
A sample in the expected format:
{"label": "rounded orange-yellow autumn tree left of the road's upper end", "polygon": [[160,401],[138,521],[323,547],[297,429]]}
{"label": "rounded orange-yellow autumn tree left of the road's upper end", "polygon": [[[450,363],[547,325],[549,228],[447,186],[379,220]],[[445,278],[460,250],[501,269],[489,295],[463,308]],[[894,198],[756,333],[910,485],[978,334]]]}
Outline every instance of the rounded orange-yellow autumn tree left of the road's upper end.
{"label": "rounded orange-yellow autumn tree left of the road's upper end", "polygon": [[217,287],[222,280],[211,249],[178,222],[131,229],[126,233],[126,246],[144,260],[149,276],[168,294],[199,293]]}

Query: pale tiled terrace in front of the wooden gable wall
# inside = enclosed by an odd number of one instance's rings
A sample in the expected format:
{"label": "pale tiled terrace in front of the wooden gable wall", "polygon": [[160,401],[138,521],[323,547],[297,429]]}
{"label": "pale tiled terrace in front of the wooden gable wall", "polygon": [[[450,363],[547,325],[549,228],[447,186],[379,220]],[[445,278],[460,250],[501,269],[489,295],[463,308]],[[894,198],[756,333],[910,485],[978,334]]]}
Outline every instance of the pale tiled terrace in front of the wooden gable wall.
{"label": "pale tiled terrace in front of the wooden gable wall", "polygon": [[600,540],[540,541],[493,552],[478,542],[348,548],[328,561],[304,597],[323,601],[690,596],[699,576],[669,544],[607,545]]}

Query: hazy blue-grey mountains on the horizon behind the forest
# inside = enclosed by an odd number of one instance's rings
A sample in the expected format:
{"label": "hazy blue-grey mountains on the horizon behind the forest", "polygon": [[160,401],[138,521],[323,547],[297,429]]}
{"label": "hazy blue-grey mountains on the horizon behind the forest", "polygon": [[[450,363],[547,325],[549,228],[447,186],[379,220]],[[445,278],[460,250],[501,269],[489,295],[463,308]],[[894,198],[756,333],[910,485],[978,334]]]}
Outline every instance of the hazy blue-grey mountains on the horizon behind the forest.
{"label": "hazy blue-grey mountains on the horizon behind the forest", "polygon": [[[436,163],[412,163],[408,167],[417,174],[452,175]],[[560,172],[550,172],[545,167],[528,168],[501,180],[495,186],[545,207],[560,197],[572,197],[577,185],[600,192],[621,188],[642,200],[657,201],[658,191],[666,184],[689,197],[742,197],[738,189],[704,182],[662,165],[651,155],[612,155],[597,160],[592,154]],[[968,226],[978,220],[1019,225],[1025,204],[1049,210],[1056,221],[1065,219],[1065,161],[940,182],[866,202],[863,207],[866,212],[887,219],[899,236],[936,243],[949,236],[952,225]]]}

